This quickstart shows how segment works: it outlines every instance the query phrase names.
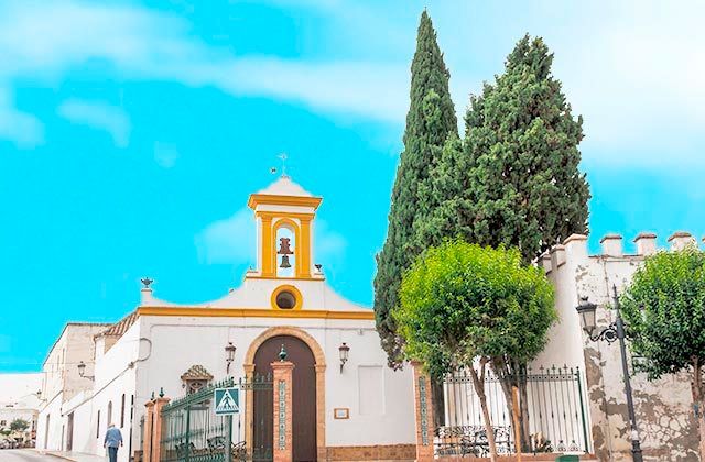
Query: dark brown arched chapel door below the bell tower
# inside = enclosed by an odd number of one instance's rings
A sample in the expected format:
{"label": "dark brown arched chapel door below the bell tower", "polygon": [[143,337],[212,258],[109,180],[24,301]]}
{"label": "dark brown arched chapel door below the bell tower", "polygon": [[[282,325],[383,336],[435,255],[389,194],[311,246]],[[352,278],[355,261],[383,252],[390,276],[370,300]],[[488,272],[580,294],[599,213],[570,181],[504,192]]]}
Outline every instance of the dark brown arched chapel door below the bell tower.
{"label": "dark brown arched chapel door below the bell tower", "polygon": [[[254,353],[254,373],[269,374],[271,363],[278,361],[279,352],[284,345],[288,361],[294,363],[292,377],[292,430],[294,462],[316,461],[316,361],[308,345],[292,336],[275,336],[267,339]],[[268,431],[263,438],[273,437],[273,416],[268,406],[253,403],[254,421],[267,421]],[[270,430],[271,429],[271,430]],[[253,435],[257,439],[257,433]],[[254,441],[257,447],[259,441]],[[271,443],[270,443],[271,444]]]}

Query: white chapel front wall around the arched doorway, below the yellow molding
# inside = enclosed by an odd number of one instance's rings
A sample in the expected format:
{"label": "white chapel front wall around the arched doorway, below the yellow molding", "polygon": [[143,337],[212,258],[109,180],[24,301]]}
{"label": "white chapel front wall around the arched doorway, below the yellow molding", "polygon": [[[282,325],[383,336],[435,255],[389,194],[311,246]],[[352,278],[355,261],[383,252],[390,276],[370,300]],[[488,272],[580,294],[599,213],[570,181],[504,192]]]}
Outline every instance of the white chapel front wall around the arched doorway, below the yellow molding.
{"label": "white chapel front wall around the arched doorway, below the yellow molding", "polygon": [[[368,446],[413,443],[415,441],[414,399],[410,367],[392,372],[379,344],[379,336],[369,320],[281,319],[281,318],[207,318],[207,317],[141,317],[142,337],[151,340],[149,359],[138,365],[135,407],[143,415],[143,404],[152,392],[163,387],[167,397],[184,395],[181,375],[192,365],[200,364],[215,380],[226,375],[225,345],[237,346],[230,372],[243,375],[242,363],[250,343],[274,326],[293,326],[305,330],[321,345],[326,356],[326,444]],[[344,372],[339,369],[338,346],[350,346]],[[368,393],[379,393],[383,406],[376,414],[360,414],[359,370],[379,367],[379,386]],[[334,408],[349,408],[350,418],[336,420]],[[138,417],[139,419],[139,417]],[[139,421],[135,419],[135,421]]]}

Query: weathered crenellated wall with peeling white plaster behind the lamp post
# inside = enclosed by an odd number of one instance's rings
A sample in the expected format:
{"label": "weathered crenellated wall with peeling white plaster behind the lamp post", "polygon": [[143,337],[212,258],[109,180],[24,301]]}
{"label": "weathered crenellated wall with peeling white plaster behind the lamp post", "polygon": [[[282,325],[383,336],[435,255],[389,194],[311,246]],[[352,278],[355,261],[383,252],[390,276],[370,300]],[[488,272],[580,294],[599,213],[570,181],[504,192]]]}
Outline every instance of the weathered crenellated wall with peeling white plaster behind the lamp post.
{"label": "weathered crenellated wall with peeling white plaster behind the lamp post", "polygon": [[[679,231],[668,239],[668,249],[657,235],[642,232],[633,239],[633,252],[625,252],[622,237],[608,234],[600,252],[590,255],[587,237],[573,234],[546,252],[539,264],[556,289],[560,321],[551,330],[550,343],[539,362],[566,361],[581,364],[586,374],[587,408],[593,452],[600,461],[631,461],[631,441],[619,344],[593,342],[583,332],[575,307],[581,297],[597,305],[598,331],[615,321],[612,286],[622,294],[644,257],[657,252],[702,249],[691,233]],[[627,346],[629,343],[627,342]],[[631,354],[627,353],[631,362]],[[583,366],[584,365],[584,366]],[[647,461],[695,462],[698,436],[692,409],[690,377],[669,374],[648,381],[629,364],[641,449]]]}

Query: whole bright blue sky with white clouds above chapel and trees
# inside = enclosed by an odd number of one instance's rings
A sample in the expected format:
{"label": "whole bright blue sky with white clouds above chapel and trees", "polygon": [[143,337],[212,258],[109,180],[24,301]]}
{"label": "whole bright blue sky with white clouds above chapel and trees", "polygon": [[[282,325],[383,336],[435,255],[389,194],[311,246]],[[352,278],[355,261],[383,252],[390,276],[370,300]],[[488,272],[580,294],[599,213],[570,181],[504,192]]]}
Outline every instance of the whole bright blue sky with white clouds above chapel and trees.
{"label": "whole bright blue sky with white clouds above chapel and trees", "polygon": [[[585,118],[590,248],[705,234],[705,7],[649,1],[0,0],[0,371],[67,321],[205,301],[252,263],[250,193],[324,196],[317,261],[371,305],[427,7],[458,113],[524,33]],[[630,248],[627,249],[628,251]]]}

